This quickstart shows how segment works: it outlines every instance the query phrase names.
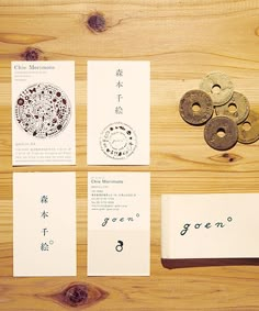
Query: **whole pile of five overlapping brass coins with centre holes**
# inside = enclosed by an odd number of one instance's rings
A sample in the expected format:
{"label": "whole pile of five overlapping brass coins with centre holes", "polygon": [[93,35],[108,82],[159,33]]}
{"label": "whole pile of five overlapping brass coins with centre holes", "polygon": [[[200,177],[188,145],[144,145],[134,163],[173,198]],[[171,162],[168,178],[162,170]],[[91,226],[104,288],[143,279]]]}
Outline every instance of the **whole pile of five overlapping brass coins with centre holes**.
{"label": "whole pile of five overlapping brass coins with centre holes", "polygon": [[209,74],[200,89],[184,93],[179,111],[189,124],[205,124],[205,142],[216,151],[259,140],[259,115],[250,110],[244,95],[234,91],[232,80],[223,73]]}

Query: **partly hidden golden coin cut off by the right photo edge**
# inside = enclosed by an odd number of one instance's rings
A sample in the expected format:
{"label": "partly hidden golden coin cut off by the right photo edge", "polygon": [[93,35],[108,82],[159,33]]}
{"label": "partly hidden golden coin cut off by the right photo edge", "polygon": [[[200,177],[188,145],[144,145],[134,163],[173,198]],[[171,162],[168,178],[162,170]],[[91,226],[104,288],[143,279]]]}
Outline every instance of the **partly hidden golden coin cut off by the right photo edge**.
{"label": "partly hidden golden coin cut off by the right photo edge", "polygon": [[238,142],[251,144],[259,140],[259,114],[249,112],[247,119],[238,125]]}

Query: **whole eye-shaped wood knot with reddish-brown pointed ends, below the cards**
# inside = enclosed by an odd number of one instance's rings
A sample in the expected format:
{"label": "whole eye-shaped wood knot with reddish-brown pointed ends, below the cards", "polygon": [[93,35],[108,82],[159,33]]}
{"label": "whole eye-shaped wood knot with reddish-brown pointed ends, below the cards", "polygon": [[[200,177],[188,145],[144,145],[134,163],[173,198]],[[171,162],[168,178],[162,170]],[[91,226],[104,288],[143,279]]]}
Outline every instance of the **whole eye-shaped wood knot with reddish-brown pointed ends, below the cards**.
{"label": "whole eye-shaped wood knot with reddish-brown pointed ends, below the cards", "polygon": [[108,297],[108,292],[91,284],[70,284],[60,292],[45,296],[66,307],[90,307]]}

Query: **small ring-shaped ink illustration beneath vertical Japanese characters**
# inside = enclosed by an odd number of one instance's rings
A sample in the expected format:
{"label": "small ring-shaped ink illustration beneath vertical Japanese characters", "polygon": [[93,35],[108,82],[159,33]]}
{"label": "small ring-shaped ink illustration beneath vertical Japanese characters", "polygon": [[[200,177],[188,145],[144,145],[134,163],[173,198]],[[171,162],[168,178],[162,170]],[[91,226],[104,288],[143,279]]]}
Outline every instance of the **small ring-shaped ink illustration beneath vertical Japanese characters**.
{"label": "small ring-shaped ink illustration beneath vertical Japanese characters", "polygon": [[106,156],[124,159],[134,153],[137,146],[137,136],[130,125],[115,122],[102,131],[100,145]]}

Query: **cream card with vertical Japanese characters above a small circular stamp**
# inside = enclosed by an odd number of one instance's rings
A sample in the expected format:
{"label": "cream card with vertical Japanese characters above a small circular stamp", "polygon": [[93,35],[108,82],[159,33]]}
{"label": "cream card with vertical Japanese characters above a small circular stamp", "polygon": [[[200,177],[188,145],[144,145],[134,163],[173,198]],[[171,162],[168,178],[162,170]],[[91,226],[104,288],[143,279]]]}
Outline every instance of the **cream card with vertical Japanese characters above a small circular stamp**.
{"label": "cream card with vertical Japanese characters above a small circular stamp", "polygon": [[88,62],[88,165],[149,165],[150,63]]}

